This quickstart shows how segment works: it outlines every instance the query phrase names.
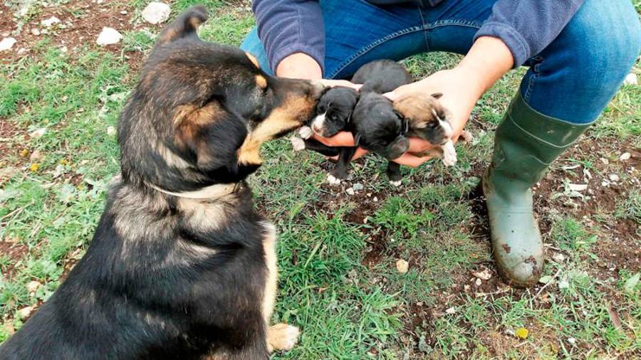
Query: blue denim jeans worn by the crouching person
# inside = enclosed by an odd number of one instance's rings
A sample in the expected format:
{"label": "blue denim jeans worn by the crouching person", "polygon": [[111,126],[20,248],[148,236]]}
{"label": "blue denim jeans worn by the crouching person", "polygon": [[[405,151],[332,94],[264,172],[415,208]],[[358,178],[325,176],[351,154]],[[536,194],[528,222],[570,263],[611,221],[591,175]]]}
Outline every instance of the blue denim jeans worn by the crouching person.
{"label": "blue denim jeans worn by the crouching person", "polygon": [[[496,0],[447,0],[435,8],[321,0],[325,77],[349,78],[371,60],[427,51],[465,54]],[[600,115],[639,55],[641,30],[630,0],[587,0],[561,34],[526,63],[523,99],[548,117],[585,124]],[[269,71],[256,28],[241,48]]]}

